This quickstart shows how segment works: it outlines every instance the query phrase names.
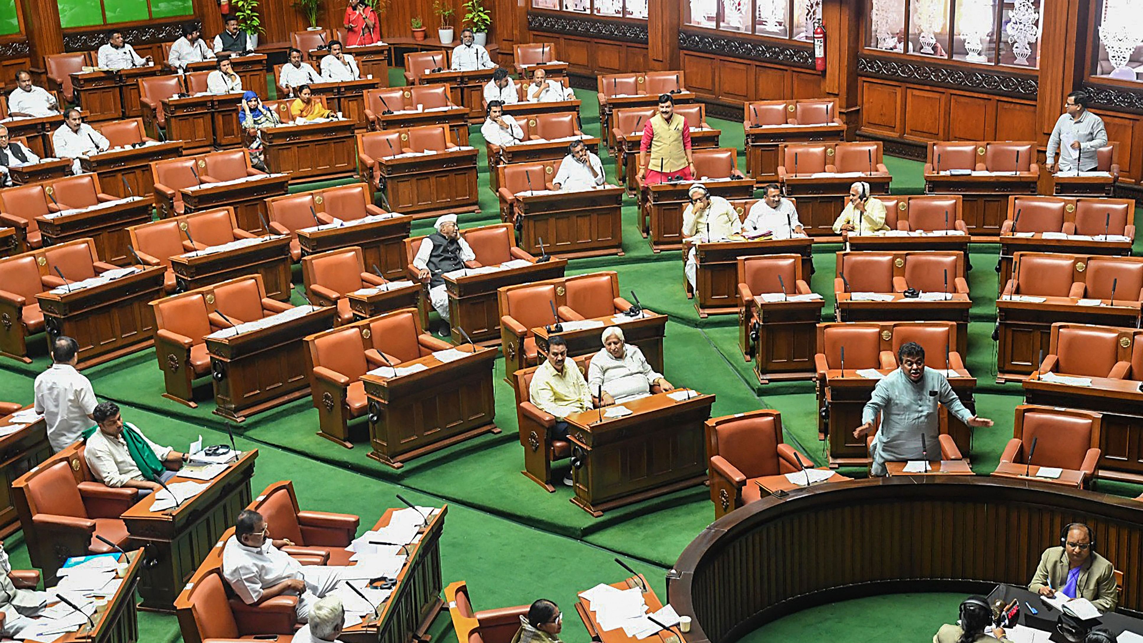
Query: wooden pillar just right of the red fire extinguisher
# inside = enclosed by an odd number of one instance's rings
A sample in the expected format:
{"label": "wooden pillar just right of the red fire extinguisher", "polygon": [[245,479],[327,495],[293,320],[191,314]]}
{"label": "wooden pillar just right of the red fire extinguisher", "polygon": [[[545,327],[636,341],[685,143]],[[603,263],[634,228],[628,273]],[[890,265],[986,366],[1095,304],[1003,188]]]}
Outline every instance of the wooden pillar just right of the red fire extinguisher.
{"label": "wooden pillar just right of the red fire extinguisher", "polygon": [[862,0],[823,0],[822,26],[825,30],[825,75],[822,91],[838,102],[838,115],[846,123],[846,139],[853,140],[861,127],[857,97],[857,55],[861,51]]}

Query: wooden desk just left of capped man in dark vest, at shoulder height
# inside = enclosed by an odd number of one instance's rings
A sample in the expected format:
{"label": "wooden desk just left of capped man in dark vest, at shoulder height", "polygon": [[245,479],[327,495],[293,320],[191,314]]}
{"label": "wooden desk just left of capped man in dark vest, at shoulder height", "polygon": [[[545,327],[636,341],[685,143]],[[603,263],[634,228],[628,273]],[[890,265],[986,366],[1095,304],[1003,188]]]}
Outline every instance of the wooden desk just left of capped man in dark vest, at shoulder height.
{"label": "wooden desk just left of capped man in dark vest, at shoulder height", "polygon": [[386,217],[366,217],[343,226],[303,227],[297,231],[302,256],[357,246],[367,268],[377,266],[389,281],[406,279],[408,258],[401,242],[409,236],[413,217],[395,212]]}

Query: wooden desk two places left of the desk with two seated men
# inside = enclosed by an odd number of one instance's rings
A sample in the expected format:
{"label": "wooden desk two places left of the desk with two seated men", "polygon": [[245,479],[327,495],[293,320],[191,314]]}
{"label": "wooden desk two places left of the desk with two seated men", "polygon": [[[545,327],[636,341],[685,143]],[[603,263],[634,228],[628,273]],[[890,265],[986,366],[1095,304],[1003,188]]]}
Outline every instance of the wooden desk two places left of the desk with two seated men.
{"label": "wooden desk two places left of the desk with two seated men", "polygon": [[214,376],[214,415],[243,421],[310,395],[304,339],[334,328],[337,308],[306,308],[309,312],[302,316],[283,319],[266,328],[237,335],[223,329],[206,336]]}

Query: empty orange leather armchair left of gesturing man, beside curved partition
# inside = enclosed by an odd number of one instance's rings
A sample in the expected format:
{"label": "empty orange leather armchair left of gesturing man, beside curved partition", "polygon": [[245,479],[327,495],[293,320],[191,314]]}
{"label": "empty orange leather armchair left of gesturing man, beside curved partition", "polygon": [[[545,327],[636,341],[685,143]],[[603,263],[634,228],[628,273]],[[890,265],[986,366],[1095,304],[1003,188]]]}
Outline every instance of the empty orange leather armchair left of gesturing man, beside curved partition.
{"label": "empty orange leather armchair left of gesturing man, beside curved partition", "polygon": [[759,500],[756,480],[814,466],[814,460],[782,442],[782,413],[773,409],[711,418],[705,427],[714,517]]}

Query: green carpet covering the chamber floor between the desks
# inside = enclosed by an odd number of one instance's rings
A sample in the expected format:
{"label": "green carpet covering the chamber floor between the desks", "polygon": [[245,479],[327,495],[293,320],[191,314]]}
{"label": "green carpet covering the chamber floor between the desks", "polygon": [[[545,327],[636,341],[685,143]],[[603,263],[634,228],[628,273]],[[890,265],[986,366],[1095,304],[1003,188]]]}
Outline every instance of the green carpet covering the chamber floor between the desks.
{"label": "green carpet covering the chamber floor between the desks", "polygon": [[[400,70],[392,70],[391,81],[400,83]],[[583,101],[584,129],[598,135],[594,95],[588,91],[577,95]],[[724,146],[742,148],[741,123],[709,121],[712,127],[722,129]],[[487,188],[487,159],[478,128],[472,128],[471,143],[480,151],[481,212],[462,216],[461,224],[497,223],[498,204],[495,194]],[[601,150],[601,155],[605,167],[614,168],[606,151]],[[889,158],[886,164],[894,175],[895,193],[922,191],[920,163]],[[740,167],[744,167],[743,159],[740,159]],[[318,186],[298,185],[291,191]],[[634,290],[648,308],[670,318],[664,369],[669,379],[676,385],[714,394],[714,415],[759,408],[781,410],[786,441],[808,453],[816,464],[823,464],[825,456],[823,444],[817,441],[813,384],[758,385],[751,364],[738,353],[736,318],[698,319],[684,292],[679,252],[653,254],[636,227],[636,215],[634,200],[626,199],[625,256],[573,260],[569,274],[618,271],[624,294]],[[413,234],[423,234],[431,225],[431,220],[417,222]],[[826,320],[832,316],[833,252],[838,249],[838,246],[815,248],[816,273],[812,287],[826,298]],[[980,415],[997,420],[996,427],[976,432],[972,458],[977,473],[988,473],[996,466],[1012,435],[1013,408],[1022,400],[1018,386],[994,384],[994,344],[990,336],[996,314],[993,266],[997,251],[994,244],[972,248],[975,266],[969,274],[973,323],[969,324],[969,349],[965,357],[977,378]],[[297,271],[295,279],[299,281]],[[297,295],[294,303],[302,303]],[[32,364],[11,360],[0,362],[0,399],[31,400],[32,379],[49,364],[42,336],[33,338],[31,345],[35,357]],[[647,573],[653,587],[663,596],[663,572],[710,523],[713,506],[708,490],[698,487],[615,509],[596,520],[572,505],[569,489],[561,487],[554,493],[546,493],[519,473],[522,458],[517,439],[514,399],[510,387],[502,381],[503,369],[503,360],[497,360],[496,423],[504,431],[501,435],[485,435],[454,445],[408,463],[400,471],[366,457],[368,444],[362,424],[352,425],[357,433],[353,449],[343,449],[319,437],[315,434],[317,411],[310,399],[285,404],[232,428],[240,449],[259,449],[255,489],[261,490],[278,480],[293,480],[303,508],[357,513],[361,515],[362,525],[369,527],[386,507],[397,505],[393,501],[397,492],[426,504],[448,503],[450,512],[442,538],[445,581],[467,580],[478,609],[525,604],[537,597],[555,600],[568,616],[563,638],[583,641],[586,632],[570,611],[575,593],[600,581],[622,578],[623,571],[612,558],[623,556]],[[119,402],[125,408],[125,417],[158,442],[182,449],[200,434],[207,443],[226,441],[226,423],[211,413],[214,403],[207,389],[201,391],[203,401],[198,409],[161,397],[162,377],[153,351],[88,369],[85,375],[91,379],[101,399]],[[1133,485],[1100,483],[1100,489],[1138,493]],[[8,539],[6,548],[15,568],[27,566],[26,548],[18,533]],[[515,573],[505,573],[505,570]],[[919,637],[911,634],[935,632],[941,622],[954,620],[958,601],[958,596],[944,594],[850,601],[782,619],[748,638],[752,643],[762,637],[918,641]],[[913,609],[898,611],[902,604]],[[878,618],[869,618],[871,611]],[[916,618],[919,612],[924,613],[920,621]],[[909,621],[903,622],[898,613],[909,613]],[[455,641],[447,616],[438,619],[432,634],[437,641]],[[174,617],[141,613],[139,641],[178,640]]]}

